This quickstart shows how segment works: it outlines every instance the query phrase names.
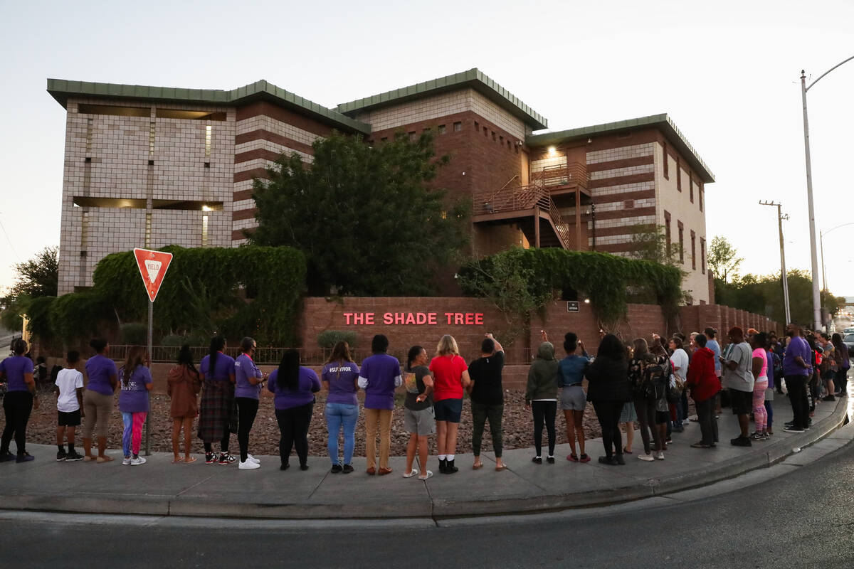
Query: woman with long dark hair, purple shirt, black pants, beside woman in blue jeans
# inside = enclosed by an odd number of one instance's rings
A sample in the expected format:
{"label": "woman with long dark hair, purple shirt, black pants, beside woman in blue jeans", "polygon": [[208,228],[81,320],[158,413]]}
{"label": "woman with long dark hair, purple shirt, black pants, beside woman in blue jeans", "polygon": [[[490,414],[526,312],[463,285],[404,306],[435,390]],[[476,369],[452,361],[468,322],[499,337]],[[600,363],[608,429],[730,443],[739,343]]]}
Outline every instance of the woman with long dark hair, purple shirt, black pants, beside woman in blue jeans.
{"label": "woman with long dark hair, purple shirt, black pants, beside woman in blue jeans", "polygon": [[300,469],[308,470],[308,425],[312,422],[314,394],[320,391],[320,380],[313,369],[300,365],[300,352],[287,350],[278,369],[270,374],[267,389],[276,394],[276,421],[280,470],[290,467],[290,450],[296,447]]}

